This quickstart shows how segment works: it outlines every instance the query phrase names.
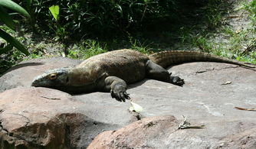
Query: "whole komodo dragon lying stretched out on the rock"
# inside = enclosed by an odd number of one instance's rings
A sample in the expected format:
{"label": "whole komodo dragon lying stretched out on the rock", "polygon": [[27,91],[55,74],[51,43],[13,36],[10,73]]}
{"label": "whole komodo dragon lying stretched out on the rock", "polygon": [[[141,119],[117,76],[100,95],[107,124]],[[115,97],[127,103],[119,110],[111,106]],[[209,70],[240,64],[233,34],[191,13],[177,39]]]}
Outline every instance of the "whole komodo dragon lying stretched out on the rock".
{"label": "whole komodo dragon lying stretched out on the rock", "polygon": [[113,50],[90,57],[74,68],[49,70],[34,78],[31,86],[59,89],[69,93],[111,92],[120,102],[130,99],[126,84],[144,78],[157,79],[178,86],[184,84],[179,76],[171,76],[166,68],[176,63],[212,61],[255,67],[236,60],[216,57],[196,51],[169,50],[146,56],[136,50]]}

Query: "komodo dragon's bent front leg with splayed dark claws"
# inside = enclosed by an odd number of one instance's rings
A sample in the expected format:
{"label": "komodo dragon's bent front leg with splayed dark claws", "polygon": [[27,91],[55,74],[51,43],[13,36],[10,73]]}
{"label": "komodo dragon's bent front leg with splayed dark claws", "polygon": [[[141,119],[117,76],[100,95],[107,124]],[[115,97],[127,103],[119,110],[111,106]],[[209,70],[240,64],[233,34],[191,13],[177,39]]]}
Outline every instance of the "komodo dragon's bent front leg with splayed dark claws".
{"label": "komodo dragon's bent front leg with splayed dark claws", "polygon": [[111,93],[112,98],[117,101],[125,102],[130,99],[129,94],[126,93],[127,85],[123,79],[117,76],[107,76],[105,79],[104,90]]}

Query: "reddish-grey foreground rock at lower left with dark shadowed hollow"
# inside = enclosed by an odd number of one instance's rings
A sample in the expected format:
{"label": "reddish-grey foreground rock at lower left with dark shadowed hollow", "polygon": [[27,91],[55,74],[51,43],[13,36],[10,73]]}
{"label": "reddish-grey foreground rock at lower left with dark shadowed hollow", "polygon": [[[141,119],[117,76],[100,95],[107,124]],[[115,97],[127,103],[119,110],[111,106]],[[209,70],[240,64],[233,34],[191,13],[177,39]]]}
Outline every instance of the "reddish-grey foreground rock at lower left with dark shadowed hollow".
{"label": "reddish-grey foreground rock at lower left with dark shadowed hollow", "polygon": [[0,148],[86,147],[100,132],[136,121],[127,110],[129,105],[108,101],[110,106],[104,102],[91,105],[65,92],[40,87],[2,92]]}

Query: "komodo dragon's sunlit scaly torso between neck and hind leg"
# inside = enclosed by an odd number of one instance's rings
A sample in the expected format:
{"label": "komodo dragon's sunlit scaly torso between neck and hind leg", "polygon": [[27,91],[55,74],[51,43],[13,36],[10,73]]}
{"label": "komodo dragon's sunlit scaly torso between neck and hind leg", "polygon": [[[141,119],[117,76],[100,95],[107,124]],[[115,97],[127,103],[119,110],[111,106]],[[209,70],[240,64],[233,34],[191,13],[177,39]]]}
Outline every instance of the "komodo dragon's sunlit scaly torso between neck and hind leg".
{"label": "komodo dragon's sunlit scaly torso between neck and hind leg", "polygon": [[95,78],[106,72],[130,84],[144,79],[147,60],[149,57],[136,50],[113,50],[90,57],[76,68],[92,72]]}

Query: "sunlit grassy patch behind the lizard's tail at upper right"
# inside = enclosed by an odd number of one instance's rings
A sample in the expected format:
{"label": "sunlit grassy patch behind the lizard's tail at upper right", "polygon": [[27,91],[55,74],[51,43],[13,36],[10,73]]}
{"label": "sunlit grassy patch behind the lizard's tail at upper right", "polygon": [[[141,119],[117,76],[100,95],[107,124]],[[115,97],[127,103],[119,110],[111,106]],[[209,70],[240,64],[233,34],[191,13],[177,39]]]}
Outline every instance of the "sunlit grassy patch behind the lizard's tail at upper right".
{"label": "sunlit grassy patch behind the lizard's tail at upper right", "polygon": [[202,52],[256,63],[256,0],[238,6],[237,11],[248,12],[251,24],[236,31],[229,25],[221,24],[225,16],[223,10],[227,11],[227,9],[223,9],[223,7],[227,7],[227,4],[223,3],[225,2],[222,0],[209,1],[205,19],[202,20],[207,24],[207,28],[202,28],[196,24],[183,26],[178,31],[179,42],[182,44],[189,43],[191,48]]}

